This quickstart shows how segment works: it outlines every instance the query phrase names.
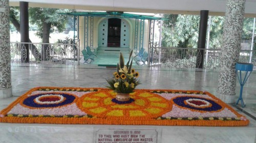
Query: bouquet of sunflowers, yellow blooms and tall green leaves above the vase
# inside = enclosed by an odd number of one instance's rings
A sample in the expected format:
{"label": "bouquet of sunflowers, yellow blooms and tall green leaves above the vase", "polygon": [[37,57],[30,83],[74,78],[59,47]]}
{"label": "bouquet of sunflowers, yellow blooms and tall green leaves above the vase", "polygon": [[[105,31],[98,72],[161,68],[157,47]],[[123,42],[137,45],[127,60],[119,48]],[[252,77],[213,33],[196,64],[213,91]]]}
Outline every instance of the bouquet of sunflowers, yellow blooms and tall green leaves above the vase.
{"label": "bouquet of sunflowers, yellow blooms and tall green leaves above the vase", "polygon": [[[130,53],[129,61],[124,65],[123,55],[120,52],[119,63],[117,64],[117,71],[113,73],[114,77],[107,79],[110,86],[107,86],[116,93],[132,93],[139,83],[139,72],[132,69],[133,59],[130,63],[133,50]],[[129,65],[130,64],[130,65]]]}

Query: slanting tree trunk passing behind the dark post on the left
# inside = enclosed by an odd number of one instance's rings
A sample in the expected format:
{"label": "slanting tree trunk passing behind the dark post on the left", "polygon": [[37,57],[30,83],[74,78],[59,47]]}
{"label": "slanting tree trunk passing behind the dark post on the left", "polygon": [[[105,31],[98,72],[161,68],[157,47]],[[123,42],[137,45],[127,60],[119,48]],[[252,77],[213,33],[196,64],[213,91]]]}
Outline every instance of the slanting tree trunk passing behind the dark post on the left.
{"label": "slanting tree trunk passing behind the dark post on the left", "polygon": [[[19,24],[18,20],[15,19],[15,18],[10,18],[10,21],[12,22],[12,24],[16,28],[17,32],[20,33],[20,27],[19,27],[20,24]],[[29,42],[32,43],[30,39],[29,39]],[[41,59],[41,54],[37,50],[37,48],[35,47],[34,44],[31,44],[31,46],[29,46],[29,49],[30,49],[31,53],[33,54],[33,56],[35,57],[36,60],[40,60]]]}

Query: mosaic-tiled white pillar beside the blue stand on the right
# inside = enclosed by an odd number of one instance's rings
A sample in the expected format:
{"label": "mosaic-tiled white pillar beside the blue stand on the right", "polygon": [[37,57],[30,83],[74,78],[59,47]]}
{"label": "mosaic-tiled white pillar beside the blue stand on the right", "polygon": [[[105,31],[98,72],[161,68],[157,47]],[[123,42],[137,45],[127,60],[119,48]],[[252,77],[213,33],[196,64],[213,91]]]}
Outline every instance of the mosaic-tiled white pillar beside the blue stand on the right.
{"label": "mosaic-tiled white pillar beside the blue stand on the right", "polygon": [[236,69],[241,49],[245,0],[227,0],[226,19],[221,47],[218,93],[222,101],[234,103],[236,95]]}

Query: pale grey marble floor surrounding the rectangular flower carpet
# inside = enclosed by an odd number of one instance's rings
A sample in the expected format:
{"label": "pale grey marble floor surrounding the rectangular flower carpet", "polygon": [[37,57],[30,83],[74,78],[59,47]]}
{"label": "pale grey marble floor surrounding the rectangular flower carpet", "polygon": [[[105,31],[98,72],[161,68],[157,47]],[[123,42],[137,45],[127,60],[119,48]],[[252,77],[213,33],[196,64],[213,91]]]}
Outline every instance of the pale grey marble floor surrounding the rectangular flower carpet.
{"label": "pale grey marble floor surrounding the rectangular flower carpet", "polygon": [[[197,69],[164,69],[146,66],[134,68],[140,73],[138,89],[200,90],[217,95],[218,71]],[[12,66],[13,97],[0,99],[0,109],[6,108],[17,97],[34,87],[100,87],[105,88],[107,78],[115,69],[97,66]],[[244,86],[244,111],[256,116],[256,72],[253,71]],[[236,98],[240,85],[237,81]],[[231,104],[232,106],[232,104]],[[238,105],[241,106],[241,103]],[[232,106],[239,113],[244,112]],[[110,126],[110,125],[56,125],[0,123],[0,142],[93,142],[93,129],[106,128],[158,128],[161,142],[255,142],[256,121],[245,115],[250,124],[245,127],[197,126]]]}

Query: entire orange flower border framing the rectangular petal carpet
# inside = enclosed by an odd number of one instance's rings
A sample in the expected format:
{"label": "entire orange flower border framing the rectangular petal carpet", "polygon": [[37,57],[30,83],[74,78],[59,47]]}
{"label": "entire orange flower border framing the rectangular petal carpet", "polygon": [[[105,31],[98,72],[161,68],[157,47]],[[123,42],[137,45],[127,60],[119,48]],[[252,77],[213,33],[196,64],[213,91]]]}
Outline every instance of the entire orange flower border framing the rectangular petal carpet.
{"label": "entire orange flower border framing the rectangular petal carpet", "polygon": [[[37,87],[33,88],[30,91],[26,92],[23,96],[18,97],[14,102],[12,102],[7,108],[3,109],[0,114],[6,115],[9,110],[11,110],[17,103],[20,102],[24,97],[31,94],[34,91],[39,89],[74,89],[74,90],[86,90],[92,91],[95,90],[109,90],[106,88],[68,88],[68,87]],[[136,90],[135,90],[136,91]],[[162,92],[190,92],[190,93],[200,93],[201,91],[184,91],[184,90],[138,90],[138,91],[162,91]],[[215,100],[218,100],[218,103],[224,107],[230,109],[233,113],[235,113],[238,117],[243,117],[236,110],[225,104],[220,99],[216,98],[214,95],[205,92],[205,94],[209,95]],[[249,120],[246,121],[221,121],[221,120],[110,120],[110,119],[101,119],[101,118],[53,118],[53,117],[36,117],[36,118],[19,118],[19,117],[0,117],[0,122],[4,123],[46,123],[46,124],[107,124],[107,125],[166,125],[166,126],[246,126],[249,124]]]}

